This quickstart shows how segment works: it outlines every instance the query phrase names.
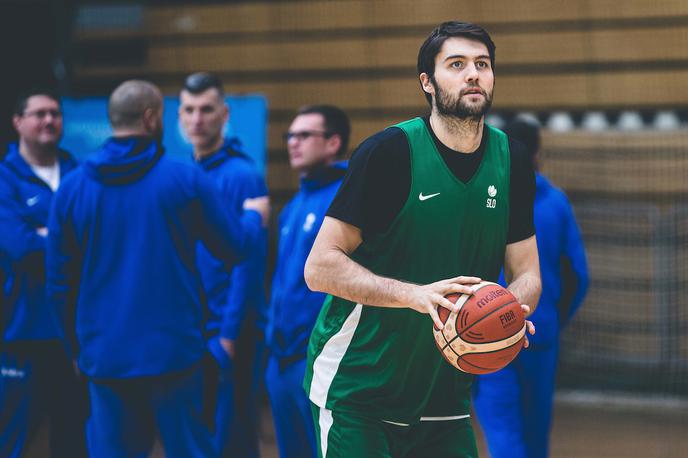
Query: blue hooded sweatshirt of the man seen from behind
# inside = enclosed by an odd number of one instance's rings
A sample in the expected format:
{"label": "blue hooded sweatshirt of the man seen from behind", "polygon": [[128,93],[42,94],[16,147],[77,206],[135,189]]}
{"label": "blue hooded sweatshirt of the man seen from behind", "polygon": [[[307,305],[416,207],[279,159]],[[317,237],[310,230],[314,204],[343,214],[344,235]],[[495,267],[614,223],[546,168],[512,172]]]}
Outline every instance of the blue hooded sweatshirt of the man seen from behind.
{"label": "blue hooded sweatshirt of the man seen from behind", "polygon": [[258,243],[197,167],[149,138],[112,138],[55,195],[48,294],[81,370],[127,378],[188,368],[205,352],[199,241],[228,265]]}

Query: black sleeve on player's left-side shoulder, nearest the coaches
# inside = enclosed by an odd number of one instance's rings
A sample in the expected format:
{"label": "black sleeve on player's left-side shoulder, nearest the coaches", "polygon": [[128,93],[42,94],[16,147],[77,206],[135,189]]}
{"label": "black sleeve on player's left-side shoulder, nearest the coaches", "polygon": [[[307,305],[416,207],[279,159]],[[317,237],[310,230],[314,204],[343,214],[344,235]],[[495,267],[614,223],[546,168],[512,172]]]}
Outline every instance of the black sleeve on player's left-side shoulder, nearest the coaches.
{"label": "black sleeve on player's left-side shoulder, nearest the coaches", "polygon": [[387,231],[411,190],[411,154],[404,132],[385,129],[354,151],[327,216],[356,226],[366,238]]}

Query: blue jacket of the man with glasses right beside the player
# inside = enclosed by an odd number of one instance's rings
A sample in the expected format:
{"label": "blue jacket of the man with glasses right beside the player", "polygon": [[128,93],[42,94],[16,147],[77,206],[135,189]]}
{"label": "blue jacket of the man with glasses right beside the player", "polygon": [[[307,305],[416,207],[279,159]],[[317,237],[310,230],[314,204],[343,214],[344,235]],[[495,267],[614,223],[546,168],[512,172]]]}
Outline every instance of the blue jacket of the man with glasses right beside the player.
{"label": "blue jacket of the man with glasses right beside the player", "polygon": [[306,357],[308,338],[325,294],[308,289],[303,268],[345,172],[346,163],[340,162],[302,178],[299,192],[280,213],[266,335],[274,357]]}

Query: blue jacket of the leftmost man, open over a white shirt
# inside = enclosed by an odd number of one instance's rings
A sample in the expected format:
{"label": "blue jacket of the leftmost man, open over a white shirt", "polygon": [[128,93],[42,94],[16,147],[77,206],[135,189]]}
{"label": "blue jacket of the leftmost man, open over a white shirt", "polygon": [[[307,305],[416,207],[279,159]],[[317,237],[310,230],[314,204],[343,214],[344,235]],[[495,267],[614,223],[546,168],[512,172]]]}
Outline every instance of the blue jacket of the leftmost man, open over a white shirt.
{"label": "blue jacket of the leftmost man, open over a white shirt", "polygon": [[[60,180],[76,166],[66,151],[59,151]],[[45,299],[45,237],[36,230],[48,226],[53,191],[9,147],[0,163],[0,258],[2,285],[2,337],[5,341],[62,337],[57,314]]]}

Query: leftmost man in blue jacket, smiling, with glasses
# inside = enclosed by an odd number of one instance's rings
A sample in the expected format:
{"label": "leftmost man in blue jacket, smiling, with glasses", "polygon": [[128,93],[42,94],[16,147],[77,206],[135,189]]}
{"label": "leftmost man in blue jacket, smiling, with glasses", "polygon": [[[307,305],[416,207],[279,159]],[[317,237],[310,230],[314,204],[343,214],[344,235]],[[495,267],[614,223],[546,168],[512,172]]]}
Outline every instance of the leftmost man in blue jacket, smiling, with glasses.
{"label": "leftmost man in blue jacket, smiling, with glasses", "polygon": [[57,95],[21,95],[13,124],[19,141],[0,163],[0,456],[21,456],[45,415],[52,456],[85,456],[85,386],[45,299],[44,269],[50,202],[77,164],[57,146]]}

